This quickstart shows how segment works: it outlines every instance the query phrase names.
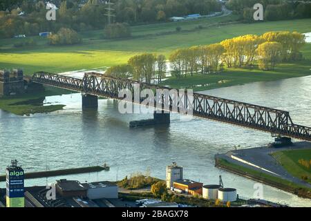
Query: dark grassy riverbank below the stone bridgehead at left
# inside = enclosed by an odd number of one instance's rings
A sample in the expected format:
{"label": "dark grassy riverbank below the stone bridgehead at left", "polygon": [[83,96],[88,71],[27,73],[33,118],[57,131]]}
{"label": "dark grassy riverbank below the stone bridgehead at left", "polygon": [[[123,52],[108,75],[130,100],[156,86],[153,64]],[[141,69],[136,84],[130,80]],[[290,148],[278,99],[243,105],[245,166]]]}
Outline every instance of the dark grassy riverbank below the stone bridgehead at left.
{"label": "dark grassy riverbank below the stone bridgehead at left", "polygon": [[47,96],[64,95],[70,93],[68,90],[44,87],[43,92],[32,92],[23,95],[0,97],[0,109],[14,113],[15,115],[32,115],[35,113],[50,113],[62,110],[65,105],[44,104]]}

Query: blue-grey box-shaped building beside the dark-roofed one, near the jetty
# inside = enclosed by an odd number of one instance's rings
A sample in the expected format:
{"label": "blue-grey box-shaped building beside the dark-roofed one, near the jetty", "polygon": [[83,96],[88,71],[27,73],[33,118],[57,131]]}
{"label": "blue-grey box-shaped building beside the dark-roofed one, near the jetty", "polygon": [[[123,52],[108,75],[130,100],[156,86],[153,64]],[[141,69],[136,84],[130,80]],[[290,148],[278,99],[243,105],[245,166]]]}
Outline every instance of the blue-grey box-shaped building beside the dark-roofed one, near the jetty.
{"label": "blue-grey box-shaped building beside the dark-roofed one, near the jetty", "polygon": [[86,196],[90,200],[118,198],[117,185],[112,182],[91,182],[82,186],[87,189]]}

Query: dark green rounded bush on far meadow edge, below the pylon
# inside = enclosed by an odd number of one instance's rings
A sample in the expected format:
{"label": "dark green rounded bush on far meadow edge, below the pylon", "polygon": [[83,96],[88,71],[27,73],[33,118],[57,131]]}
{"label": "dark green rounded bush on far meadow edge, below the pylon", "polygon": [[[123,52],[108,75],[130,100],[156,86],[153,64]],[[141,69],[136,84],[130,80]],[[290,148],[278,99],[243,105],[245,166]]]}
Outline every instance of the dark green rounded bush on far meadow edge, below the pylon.
{"label": "dark green rounded bush on far meadow edge, below the pylon", "polygon": [[128,23],[113,23],[104,30],[106,39],[131,37],[131,27]]}

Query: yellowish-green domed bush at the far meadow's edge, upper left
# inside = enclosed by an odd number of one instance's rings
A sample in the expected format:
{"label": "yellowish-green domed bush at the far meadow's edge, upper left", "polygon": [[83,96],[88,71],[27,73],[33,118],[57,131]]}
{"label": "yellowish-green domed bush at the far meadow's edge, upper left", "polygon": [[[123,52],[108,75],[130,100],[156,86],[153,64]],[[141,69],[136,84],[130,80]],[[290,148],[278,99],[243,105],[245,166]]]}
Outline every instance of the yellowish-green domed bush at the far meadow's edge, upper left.
{"label": "yellowish-green domed bush at the far meadow's edge, upper left", "polygon": [[77,32],[70,28],[61,28],[57,34],[49,35],[48,40],[52,45],[72,45],[82,41]]}

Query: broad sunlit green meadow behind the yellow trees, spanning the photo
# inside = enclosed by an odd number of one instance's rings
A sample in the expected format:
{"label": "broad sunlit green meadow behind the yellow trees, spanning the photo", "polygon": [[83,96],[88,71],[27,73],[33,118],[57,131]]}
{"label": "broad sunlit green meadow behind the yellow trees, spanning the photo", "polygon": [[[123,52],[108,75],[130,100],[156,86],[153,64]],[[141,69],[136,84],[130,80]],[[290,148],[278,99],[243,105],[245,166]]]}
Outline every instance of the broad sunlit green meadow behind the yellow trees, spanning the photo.
{"label": "broad sunlit green meadow behind the yellow trees, spanning the photo", "polygon": [[[216,18],[215,18],[216,19]],[[218,18],[228,19],[228,17]],[[198,23],[214,23],[217,20],[190,21],[186,23],[162,23],[149,26],[133,27],[132,39],[104,40],[100,39],[99,31],[83,33],[84,43],[76,46],[48,46],[46,39],[35,37],[37,46],[33,48],[14,48],[13,44],[21,39],[0,40],[0,67],[23,68],[27,75],[45,70],[48,72],[63,72],[91,68],[105,68],[115,64],[124,64],[133,55],[142,52],[156,52],[169,55],[176,48],[194,45],[212,44],[223,39],[246,34],[262,34],[272,30],[296,30],[310,32],[311,19],[292,21],[274,21],[252,24],[230,24],[195,29]],[[186,26],[186,32],[163,34],[175,30],[175,26]],[[184,29],[183,29],[184,30]],[[149,34],[153,35],[149,35]],[[158,35],[154,35],[158,33]],[[305,49],[310,57],[310,47]]]}

